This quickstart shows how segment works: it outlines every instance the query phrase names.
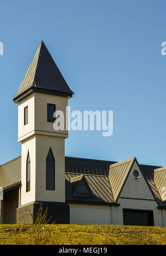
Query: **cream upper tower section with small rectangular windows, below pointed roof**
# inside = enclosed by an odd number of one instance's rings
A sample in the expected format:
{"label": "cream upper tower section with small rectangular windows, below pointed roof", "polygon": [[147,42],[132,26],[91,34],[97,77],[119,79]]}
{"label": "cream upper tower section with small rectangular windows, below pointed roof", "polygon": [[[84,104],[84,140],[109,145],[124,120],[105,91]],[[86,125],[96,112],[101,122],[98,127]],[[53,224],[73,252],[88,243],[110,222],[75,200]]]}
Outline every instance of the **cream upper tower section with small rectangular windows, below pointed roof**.
{"label": "cream upper tower section with small rectangular windows, below pointed roof", "polygon": [[[64,112],[64,127],[66,128],[66,107],[68,98],[32,93],[18,104],[18,141],[22,142],[35,134],[68,137],[68,130],[55,131],[53,123],[47,121],[47,104],[55,104],[56,111]],[[28,106],[28,124],[24,125],[24,107]],[[68,122],[68,121],[67,121]]]}

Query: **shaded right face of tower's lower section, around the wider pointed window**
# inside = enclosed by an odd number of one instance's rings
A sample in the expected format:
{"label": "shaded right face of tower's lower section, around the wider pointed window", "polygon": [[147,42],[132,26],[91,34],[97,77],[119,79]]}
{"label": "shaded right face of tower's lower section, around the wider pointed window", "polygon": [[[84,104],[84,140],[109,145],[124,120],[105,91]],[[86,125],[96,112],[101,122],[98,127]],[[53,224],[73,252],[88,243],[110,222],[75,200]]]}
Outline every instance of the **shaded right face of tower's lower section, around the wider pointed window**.
{"label": "shaded right face of tower's lower section, around the wider pointed window", "polygon": [[[49,149],[55,159],[55,191],[46,190],[46,157]],[[37,201],[65,202],[65,139],[36,136],[36,195]]]}

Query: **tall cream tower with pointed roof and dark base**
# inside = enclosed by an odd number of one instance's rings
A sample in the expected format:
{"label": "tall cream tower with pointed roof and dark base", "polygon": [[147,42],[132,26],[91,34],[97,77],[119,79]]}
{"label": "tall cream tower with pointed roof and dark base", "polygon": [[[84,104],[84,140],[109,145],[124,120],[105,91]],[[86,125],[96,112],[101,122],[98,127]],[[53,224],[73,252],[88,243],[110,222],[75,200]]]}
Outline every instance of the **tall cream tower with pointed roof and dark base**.
{"label": "tall cream tower with pointed roof and dark base", "polygon": [[[42,41],[13,98],[18,104],[18,141],[22,143],[19,218],[27,210],[34,214],[42,201],[56,223],[69,221],[69,205],[65,203],[68,130],[54,130],[53,114],[61,110],[66,116],[73,94]],[[65,128],[67,122],[65,119]]]}

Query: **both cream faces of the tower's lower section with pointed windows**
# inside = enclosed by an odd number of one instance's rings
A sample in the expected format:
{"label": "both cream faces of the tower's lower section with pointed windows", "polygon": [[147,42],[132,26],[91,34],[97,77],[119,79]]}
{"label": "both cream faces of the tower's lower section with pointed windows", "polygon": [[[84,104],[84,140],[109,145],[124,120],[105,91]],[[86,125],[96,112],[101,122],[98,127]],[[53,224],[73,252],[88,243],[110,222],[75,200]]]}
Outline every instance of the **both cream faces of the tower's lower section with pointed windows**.
{"label": "both cream faces of the tower's lower section with pointed windows", "polygon": [[[34,135],[22,142],[21,205],[33,201],[65,202],[65,139]],[[49,149],[55,158],[55,191],[46,190],[46,157]],[[26,162],[30,156],[30,191],[26,192]]]}

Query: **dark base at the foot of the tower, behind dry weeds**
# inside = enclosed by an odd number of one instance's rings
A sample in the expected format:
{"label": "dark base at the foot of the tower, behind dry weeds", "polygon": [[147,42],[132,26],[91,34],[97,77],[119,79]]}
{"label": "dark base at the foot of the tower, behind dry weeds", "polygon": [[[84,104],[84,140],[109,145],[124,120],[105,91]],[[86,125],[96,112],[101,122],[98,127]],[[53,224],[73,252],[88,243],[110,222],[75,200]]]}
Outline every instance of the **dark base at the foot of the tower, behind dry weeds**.
{"label": "dark base at the foot of the tower, behind dry weeds", "polygon": [[[41,201],[22,205],[17,208],[17,223],[32,224],[33,217],[38,213]],[[49,223],[69,224],[70,206],[59,202],[42,202],[43,213],[48,208]]]}

